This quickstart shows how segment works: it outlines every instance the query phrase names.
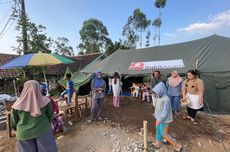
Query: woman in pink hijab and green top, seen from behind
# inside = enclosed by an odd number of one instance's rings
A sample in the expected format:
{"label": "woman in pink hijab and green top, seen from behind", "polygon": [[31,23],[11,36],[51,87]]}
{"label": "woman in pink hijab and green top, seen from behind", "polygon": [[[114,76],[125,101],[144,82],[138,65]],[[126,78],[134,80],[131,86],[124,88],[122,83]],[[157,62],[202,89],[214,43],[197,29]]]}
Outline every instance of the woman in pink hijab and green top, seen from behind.
{"label": "woman in pink hijab and green top, seen from behind", "polygon": [[11,126],[16,130],[19,152],[57,152],[51,129],[54,112],[50,99],[42,96],[40,84],[29,80],[13,104]]}

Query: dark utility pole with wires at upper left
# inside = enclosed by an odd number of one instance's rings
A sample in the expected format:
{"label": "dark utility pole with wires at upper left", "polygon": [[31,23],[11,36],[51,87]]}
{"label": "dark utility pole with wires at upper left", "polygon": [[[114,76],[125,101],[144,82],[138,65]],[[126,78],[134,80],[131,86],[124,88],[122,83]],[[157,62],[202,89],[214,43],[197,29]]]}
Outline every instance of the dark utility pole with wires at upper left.
{"label": "dark utility pole with wires at upper left", "polygon": [[26,54],[28,52],[28,40],[27,40],[27,17],[24,0],[19,0],[21,5],[20,18],[22,21],[22,40],[23,40],[23,52]]}

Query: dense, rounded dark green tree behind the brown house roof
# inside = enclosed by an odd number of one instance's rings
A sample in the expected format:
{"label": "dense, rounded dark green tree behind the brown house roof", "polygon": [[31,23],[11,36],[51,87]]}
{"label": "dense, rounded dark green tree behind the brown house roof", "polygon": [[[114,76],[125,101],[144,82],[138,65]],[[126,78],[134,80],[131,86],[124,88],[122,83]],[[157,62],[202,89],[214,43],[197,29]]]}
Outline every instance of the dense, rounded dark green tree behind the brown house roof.
{"label": "dense, rounded dark green tree behind the brown house roof", "polygon": [[87,54],[106,51],[111,41],[106,26],[98,19],[84,21],[79,33],[82,42],[78,47]]}

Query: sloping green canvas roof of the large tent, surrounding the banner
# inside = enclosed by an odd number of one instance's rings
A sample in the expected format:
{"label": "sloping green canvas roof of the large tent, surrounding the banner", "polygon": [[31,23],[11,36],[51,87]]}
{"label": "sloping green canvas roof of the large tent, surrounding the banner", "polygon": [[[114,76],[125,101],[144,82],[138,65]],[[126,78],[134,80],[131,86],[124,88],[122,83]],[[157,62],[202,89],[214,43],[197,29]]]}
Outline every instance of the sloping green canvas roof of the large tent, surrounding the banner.
{"label": "sloping green canvas roof of the large tent, surrounding the banner", "polygon": [[[189,69],[199,69],[202,72],[230,71],[228,64],[230,52],[230,38],[212,35],[207,38],[185,43],[156,46],[134,50],[117,50],[101,62],[82,70],[84,73],[93,73],[100,70],[106,74],[115,71],[124,75],[136,75],[151,73],[156,69],[129,70],[132,62],[167,61],[182,59],[185,67],[175,68],[180,73],[186,73]],[[168,72],[172,69],[159,69]]]}

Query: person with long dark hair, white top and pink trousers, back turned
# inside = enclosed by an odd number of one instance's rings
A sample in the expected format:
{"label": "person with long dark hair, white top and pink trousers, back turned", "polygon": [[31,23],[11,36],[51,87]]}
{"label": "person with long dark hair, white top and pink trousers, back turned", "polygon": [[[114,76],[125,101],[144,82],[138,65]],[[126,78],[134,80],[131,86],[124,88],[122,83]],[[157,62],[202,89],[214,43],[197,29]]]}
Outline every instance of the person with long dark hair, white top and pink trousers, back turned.
{"label": "person with long dark hair, white top and pink trousers, back turned", "polygon": [[120,94],[121,94],[121,80],[118,72],[114,73],[112,79],[112,88],[113,88],[113,106],[120,108]]}

